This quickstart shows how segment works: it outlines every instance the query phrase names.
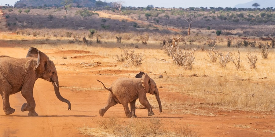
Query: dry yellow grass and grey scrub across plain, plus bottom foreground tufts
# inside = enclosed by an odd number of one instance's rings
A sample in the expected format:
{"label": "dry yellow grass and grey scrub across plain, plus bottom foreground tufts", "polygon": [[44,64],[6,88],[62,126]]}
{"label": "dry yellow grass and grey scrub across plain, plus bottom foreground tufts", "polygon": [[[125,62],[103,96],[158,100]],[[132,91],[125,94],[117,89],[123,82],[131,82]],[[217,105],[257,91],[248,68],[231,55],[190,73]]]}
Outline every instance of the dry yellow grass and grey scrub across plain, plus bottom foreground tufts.
{"label": "dry yellow grass and grey scrub across plain, plus bottom foreground tufts", "polygon": [[[186,96],[181,101],[161,99],[171,114],[274,114],[274,9],[190,8],[197,12],[191,35],[182,19],[189,12],[184,9],[71,8],[67,15],[60,8],[30,9],[28,14],[19,10],[4,9],[15,35],[1,39],[38,48],[91,51],[105,57],[94,61],[106,69],[151,73],[161,92]],[[85,16],[79,14],[83,12]],[[148,99],[158,107],[154,97]],[[95,136],[199,136],[189,126],[168,131],[159,118],[147,119],[148,125],[142,118],[129,119],[131,125],[116,117],[93,120],[98,126],[79,130]]]}

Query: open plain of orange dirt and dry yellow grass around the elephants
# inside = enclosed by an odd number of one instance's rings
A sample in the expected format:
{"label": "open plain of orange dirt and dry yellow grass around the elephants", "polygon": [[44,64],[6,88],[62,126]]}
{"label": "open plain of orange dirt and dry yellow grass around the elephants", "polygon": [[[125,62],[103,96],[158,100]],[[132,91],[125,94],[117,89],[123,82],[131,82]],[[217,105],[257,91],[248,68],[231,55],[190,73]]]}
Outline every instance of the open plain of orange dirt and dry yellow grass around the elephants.
{"label": "open plain of orange dirt and dry yellow grass around the elephants", "polygon": [[[34,98],[39,116],[29,117],[28,112],[21,112],[24,97],[20,93],[11,95],[10,104],[16,111],[5,115],[0,110],[1,136],[275,135],[274,48],[268,48],[268,58],[263,58],[263,48],[228,47],[225,36],[215,37],[217,45],[213,48],[204,40],[190,42],[190,37],[203,39],[198,35],[166,34],[179,40],[177,46],[193,57],[189,67],[184,67],[177,65],[160,44],[162,41],[153,39],[156,36],[150,33],[121,33],[122,41],[118,42],[118,34],[99,31],[85,43],[82,37],[78,40],[54,35],[68,34],[65,29],[41,30],[48,31],[46,37],[41,33],[34,35],[39,31],[35,29],[1,29],[5,31],[0,32],[0,55],[25,58],[30,47],[44,52],[57,68],[61,95],[71,102],[71,110],[67,110],[67,104],[55,97],[53,85],[38,79]],[[127,36],[139,40],[124,40]],[[259,45],[266,45],[266,41],[256,40]],[[212,60],[215,52],[217,61]],[[257,58],[255,68],[251,66],[252,57]],[[97,79],[109,87],[117,78],[134,78],[140,71],[156,82],[162,112],[155,96],[147,94],[155,115],[147,116],[147,109],[142,109],[137,101],[138,118],[126,118],[121,104],[109,108],[101,117],[99,109],[105,106],[109,93]]]}

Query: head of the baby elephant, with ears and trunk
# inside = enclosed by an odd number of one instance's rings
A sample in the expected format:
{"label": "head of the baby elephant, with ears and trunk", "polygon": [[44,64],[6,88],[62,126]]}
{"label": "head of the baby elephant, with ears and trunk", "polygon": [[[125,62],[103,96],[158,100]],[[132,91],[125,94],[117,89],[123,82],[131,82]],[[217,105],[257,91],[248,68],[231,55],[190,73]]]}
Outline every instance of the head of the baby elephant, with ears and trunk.
{"label": "head of the baby elephant, with ears and trunk", "polygon": [[150,94],[156,96],[156,100],[158,101],[160,112],[161,112],[162,109],[161,109],[161,102],[160,102],[160,94],[159,94],[159,90],[158,90],[158,87],[156,86],[155,81],[153,79],[151,79],[144,72],[139,72],[136,75],[136,78],[141,78],[141,83],[142,83],[142,86],[144,87],[146,93],[150,93]]}

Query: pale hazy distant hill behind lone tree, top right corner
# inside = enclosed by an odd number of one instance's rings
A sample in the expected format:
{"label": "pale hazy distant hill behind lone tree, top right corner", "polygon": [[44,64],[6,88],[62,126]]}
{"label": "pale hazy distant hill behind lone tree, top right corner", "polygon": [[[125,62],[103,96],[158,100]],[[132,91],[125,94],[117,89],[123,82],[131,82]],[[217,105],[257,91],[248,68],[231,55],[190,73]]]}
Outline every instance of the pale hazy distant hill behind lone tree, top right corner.
{"label": "pale hazy distant hill behind lone tree, top right corner", "polygon": [[243,3],[243,4],[238,4],[235,6],[235,8],[254,8],[252,5],[254,3],[258,3],[260,6],[259,8],[270,8],[270,7],[275,7],[275,1],[274,0],[253,0],[251,2]]}

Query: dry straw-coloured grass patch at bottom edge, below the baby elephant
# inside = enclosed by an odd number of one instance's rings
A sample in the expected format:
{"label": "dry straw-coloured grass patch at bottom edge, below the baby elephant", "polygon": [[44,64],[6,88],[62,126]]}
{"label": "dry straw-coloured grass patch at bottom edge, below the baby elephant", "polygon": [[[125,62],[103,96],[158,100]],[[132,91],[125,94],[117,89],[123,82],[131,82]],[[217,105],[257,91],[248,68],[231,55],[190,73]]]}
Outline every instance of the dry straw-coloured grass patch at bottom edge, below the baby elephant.
{"label": "dry straw-coloured grass patch at bottom edge, below the baby elephant", "polygon": [[[96,126],[90,128],[84,126],[79,130],[84,135],[91,136],[163,136],[163,137],[198,137],[199,134],[193,131],[190,126],[181,126],[168,130],[159,118],[130,118],[126,121],[112,116],[110,118],[92,119]],[[171,126],[171,125],[170,125]]]}

